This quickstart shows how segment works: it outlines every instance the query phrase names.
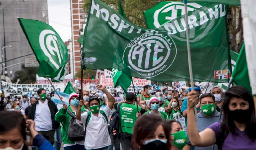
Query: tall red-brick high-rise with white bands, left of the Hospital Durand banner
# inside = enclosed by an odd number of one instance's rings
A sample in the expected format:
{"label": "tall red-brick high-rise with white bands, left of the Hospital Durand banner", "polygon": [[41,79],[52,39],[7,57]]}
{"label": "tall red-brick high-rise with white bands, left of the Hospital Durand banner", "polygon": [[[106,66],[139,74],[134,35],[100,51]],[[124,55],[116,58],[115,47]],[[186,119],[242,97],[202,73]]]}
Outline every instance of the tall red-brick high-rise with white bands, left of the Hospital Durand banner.
{"label": "tall red-brick high-rise with white bands, left of the Hospital Durand banner", "polygon": [[81,69],[80,54],[82,45],[77,42],[77,39],[80,35],[84,34],[84,28],[87,19],[87,15],[82,8],[83,4],[83,0],[70,0],[74,75],[79,69]]}

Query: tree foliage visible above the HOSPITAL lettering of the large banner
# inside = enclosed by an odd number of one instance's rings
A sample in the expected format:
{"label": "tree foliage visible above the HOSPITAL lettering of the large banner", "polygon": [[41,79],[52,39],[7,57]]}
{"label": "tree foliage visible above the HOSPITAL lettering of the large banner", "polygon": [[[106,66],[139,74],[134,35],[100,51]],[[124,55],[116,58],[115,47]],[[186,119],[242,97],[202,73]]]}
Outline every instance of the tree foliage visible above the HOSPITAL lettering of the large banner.
{"label": "tree foliage visible above the HOSPITAL lettering of the large banner", "polygon": [[[118,11],[118,0],[101,0],[111,8],[114,8]],[[170,1],[170,0],[161,0],[161,1]],[[172,1],[182,1],[182,0],[172,0]],[[84,0],[84,10],[86,13],[89,11],[91,0]],[[143,12],[149,8],[155,6],[160,1],[157,0],[122,0],[122,6],[124,8],[124,13],[127,17],[127,20],[131,23],[146,27],[146,22]]]}

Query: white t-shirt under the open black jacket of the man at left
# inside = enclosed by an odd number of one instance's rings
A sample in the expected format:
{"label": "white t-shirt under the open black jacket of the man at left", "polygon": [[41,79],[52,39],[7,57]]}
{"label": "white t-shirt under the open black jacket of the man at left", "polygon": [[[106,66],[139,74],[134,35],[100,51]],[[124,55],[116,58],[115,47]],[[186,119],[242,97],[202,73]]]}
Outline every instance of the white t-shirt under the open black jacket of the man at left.
{"label": "white t-shirt under the open black jacket of the man at left", "polygon": [[44,103],[41,103],[38,100],[38,102],[34,118],[35,129],[36,131],[50,131],[52,130],[52,119],[48,101],[45,100]]}

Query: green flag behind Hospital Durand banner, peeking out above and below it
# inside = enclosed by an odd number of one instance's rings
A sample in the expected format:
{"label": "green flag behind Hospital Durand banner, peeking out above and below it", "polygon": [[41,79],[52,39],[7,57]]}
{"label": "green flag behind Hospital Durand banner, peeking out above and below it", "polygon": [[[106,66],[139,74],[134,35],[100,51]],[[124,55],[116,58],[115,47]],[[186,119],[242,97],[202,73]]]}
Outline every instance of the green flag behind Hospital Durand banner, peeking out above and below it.
{"label": "green flag behind Hospital Durand banner, peeking out above and below it", "polygon": [[[126,19],[126,16],[124,14],[124,10],[121,4],[121,0],[119,0],[118,13],[121,14]],[[128,94],[126,89],[131,85],[132,77],[114,68],[112,69],[112,72],[113,72],[112,78],[113,78],[114,87],[116,88],[117,86],[121,86],[124,92]]]}

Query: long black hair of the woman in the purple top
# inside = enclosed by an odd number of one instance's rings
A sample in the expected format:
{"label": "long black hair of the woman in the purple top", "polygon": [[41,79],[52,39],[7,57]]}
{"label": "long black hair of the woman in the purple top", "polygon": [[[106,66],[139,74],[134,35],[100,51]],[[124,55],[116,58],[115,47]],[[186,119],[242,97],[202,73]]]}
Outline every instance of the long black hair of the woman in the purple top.
{"label": "long black hair of the woman in the purple top", "polygon": [[243,86],[232,86],[229,88],[224,94],[224,102],[223,102],[223,121],[222,121],[222,129],[226,132],[231,132],[232,134],[237,134],[235,132],[236,125],[234,124],[233,119],[229,119],[229,108],[228,105],[230,103],[231,98],[237,97],[242,98],[245,101],[249,102],[249,110],[251,111],[251,118],[248,119],[246,123],[246,132],[247,135],[252,141],[256,139],[256,118],[255,118],[255,108],[253,103],[253,98],[250,92]]}

